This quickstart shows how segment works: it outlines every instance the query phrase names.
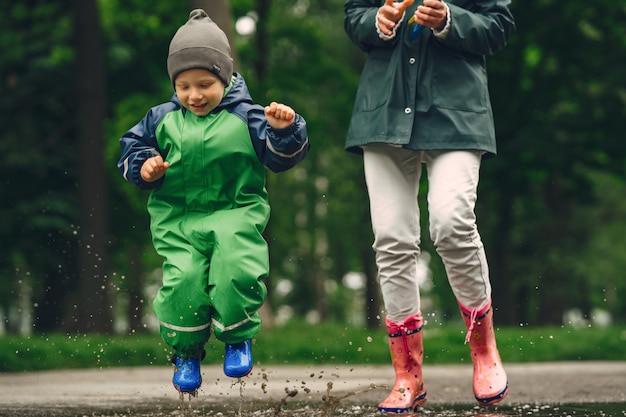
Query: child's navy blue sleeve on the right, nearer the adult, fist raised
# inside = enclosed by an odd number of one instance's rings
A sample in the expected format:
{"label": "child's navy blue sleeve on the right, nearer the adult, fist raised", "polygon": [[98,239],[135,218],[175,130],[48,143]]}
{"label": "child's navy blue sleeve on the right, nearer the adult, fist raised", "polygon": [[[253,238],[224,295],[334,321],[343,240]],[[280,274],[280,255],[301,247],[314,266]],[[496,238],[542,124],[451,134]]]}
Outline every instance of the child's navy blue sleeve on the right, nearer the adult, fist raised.
{"label": "child's navy blue sleeve on the right, nearer the adult, fist raised", "polygon": [[309,152],[306,121],[297,113],[290,126],[274,129],[267,123],[263,107],[253,105],[248,110],[248,128],[256,154],[273,172],[294,167]]}

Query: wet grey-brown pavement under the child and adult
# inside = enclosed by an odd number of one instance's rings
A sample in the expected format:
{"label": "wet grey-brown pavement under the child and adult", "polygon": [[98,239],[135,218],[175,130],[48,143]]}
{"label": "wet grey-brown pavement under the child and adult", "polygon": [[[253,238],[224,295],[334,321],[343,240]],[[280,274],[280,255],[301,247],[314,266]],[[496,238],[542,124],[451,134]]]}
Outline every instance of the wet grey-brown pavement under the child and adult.
{"label": "wet grey-brown pavement under the child and adult", "polygon": [[[480,415],[530,415],[525,408],[541,407],[541,404],[554,407],[626,403],[626,362],[552,362],[505,364],[505,367],[509,395],[498,407],[508,411]],[[376,404],[388,394],[394,377],[391,366],[379,365],[255,366],[252,374],[241,381],[224,376],[220,366],[205,366],[202,375],[204,382],[198,396],[184,404],[195,412],[183,410],[185,414],[223,415],[227,414],[226,410],[239,410],[241,415],[244,409],[258,411],[269,407],[274,410],[273,415],[278,415],[291,404],[305,410],[309,404],[319,411],[320,404],[328,405],[331,400],[335,408],[339,403],[364,407],[356,412],[364,415],[367,412],[363,410],[375,411]],[[170,367],[0,373],[0,416],[176,415],[182,413],[181,403],[171,377]],[[425,414],[443,405],[476,409],[471,365],[425,365],[424,379],[428,390]],[[511,410],[517,411],[511,414]],[[327,409],[322,414],[333,413]]]}

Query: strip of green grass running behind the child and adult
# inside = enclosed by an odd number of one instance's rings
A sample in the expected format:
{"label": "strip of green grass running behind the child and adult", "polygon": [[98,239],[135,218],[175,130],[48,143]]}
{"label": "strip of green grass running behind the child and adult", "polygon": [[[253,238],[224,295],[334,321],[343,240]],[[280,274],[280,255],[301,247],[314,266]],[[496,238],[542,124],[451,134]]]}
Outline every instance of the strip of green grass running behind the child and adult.
{"label": "strip of green grass running behind the child and adult", "polygon": [[[467,363],[460,323],[424,327],[425,362]],[[505,362],[626,360],[626,327],[504,327],[497,330]],[[211,339],[203,363],[220,364],[223,344]],[[385,331],[338,323],[292,323],[261,330],[254,340],[255,363],[387,364]],[[0,337],[0,372],[70,368],[163,366],[170,349],[154,333],[135,335],[34,335]]]}

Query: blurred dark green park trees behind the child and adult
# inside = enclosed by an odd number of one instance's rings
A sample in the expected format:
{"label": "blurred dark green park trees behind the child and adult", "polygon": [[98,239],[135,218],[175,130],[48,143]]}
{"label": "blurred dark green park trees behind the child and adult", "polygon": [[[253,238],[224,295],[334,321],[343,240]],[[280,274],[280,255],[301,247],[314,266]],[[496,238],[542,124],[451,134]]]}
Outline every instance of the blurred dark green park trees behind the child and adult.
{"label": "blurred dark green park trees behind the child and adult", "polygon": [[[305,162],[267,176],[265,325],[380,326],[361,158],[343,150],[364,62],[343,0],[0,0],[0,335],[154,329],[161,260],[118,139],[171,97],[169,41],[196,7],[229,36],[255,101],[308,122]],[[623,326],[626,3],[512,11],[517,33],[488,58],[499,155],[477,206],[496,321]],[[422,221],[424,313],[458,320]]]}

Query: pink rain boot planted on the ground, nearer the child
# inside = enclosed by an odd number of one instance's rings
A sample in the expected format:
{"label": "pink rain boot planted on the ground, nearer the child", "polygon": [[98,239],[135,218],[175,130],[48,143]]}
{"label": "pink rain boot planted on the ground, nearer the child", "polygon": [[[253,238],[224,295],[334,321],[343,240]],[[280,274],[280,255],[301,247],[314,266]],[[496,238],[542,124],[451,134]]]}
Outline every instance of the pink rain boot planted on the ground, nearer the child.
{"label": "pink rain boot planted on the ground, nearer the child", "polygon": [[388,414],[412,412],[426,402],[422,379],[422,315],[414,314],[402,323],[387,319],[391,363],[396,381],[389,396],[378,404],[378,411]]}

